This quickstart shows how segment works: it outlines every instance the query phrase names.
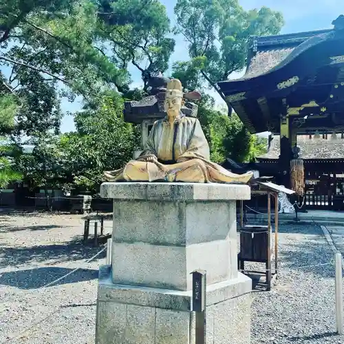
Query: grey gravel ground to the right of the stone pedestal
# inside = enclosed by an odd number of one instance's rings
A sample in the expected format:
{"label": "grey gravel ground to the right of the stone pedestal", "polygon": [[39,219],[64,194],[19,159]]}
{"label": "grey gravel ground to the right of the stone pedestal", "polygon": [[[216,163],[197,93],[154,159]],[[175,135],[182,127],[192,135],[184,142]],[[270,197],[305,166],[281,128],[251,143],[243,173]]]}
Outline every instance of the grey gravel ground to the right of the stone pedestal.
{"label": "grey gravel ground to the right of the stone pedestal", "polygon": [[253,293],[252,344],[344,343],[334,334],[334,255],[321,228],[283,225],[279,233],[277,284]]}

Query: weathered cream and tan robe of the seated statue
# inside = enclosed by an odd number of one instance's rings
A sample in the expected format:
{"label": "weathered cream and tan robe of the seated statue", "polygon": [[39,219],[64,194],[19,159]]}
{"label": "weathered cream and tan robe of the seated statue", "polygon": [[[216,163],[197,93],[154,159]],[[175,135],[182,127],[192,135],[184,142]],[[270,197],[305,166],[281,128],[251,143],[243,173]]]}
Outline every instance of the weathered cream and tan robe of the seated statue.
{"label": "weathered cream and tan robe of the seated statue", "polygon": [[[147,162],[149,157],[157,159]],[[105,178],[109,182],[247,183],[252,172],[237,175],[211,162],[199,120],[181,115],[173,124],[167,118],[157,120],[138,159],[117,171],[105,172]]]}

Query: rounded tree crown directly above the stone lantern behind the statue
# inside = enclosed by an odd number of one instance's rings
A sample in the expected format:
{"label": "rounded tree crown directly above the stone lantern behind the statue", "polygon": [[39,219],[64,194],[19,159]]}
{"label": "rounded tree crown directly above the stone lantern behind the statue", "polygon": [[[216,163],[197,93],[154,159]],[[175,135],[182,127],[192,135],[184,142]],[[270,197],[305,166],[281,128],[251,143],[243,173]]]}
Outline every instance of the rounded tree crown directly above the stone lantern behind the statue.
{"label": "rounded tree crown directly above the stone lantern behind the statue", "polygon": [[[164,72],[175,41],[169,38],[170,21],[166,8],[158,0],[99,1],[103,45],[107,54],[121,69],[129,64],[138,68],[144,81],[144,91],[150,75]],[[125,93],[127,87],[118,87]]]}

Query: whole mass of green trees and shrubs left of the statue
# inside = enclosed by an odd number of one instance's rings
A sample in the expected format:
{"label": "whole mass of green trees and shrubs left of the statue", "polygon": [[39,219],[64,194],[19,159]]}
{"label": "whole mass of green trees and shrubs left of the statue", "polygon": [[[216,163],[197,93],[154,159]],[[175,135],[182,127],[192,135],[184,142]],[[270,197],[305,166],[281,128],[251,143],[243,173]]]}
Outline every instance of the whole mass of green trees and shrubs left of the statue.
{"label": "whole mass of green trees and shrubs left of the statue", "polygon": [[[96,188],[104,169],[125,164],[140,138],[123,121],[123,99],[114,92],[130,100],[144,95],[145,89],[128,87],[129,64],[140,69],[146,88],[150,74],[168,68],[174,40],[166,37],[164,6],[156,0],[0,0],[0,13],[0,135],[17,144],[26,136],[34,146],[15,156],[16,168],[32,187],[67,181]],[[61,96],[82,96],[87,105],[75,116],[77,132],[56,136]]]}

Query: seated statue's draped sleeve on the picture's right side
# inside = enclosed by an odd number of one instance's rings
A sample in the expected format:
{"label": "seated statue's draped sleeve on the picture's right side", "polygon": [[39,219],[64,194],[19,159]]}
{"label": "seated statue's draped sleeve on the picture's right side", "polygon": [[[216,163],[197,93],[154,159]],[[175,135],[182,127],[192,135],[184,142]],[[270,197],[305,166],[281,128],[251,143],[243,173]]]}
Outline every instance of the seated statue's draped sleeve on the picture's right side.
{"label": "seated statue's draped sleeve on the picture's right side", "polygon": [[204,136],[200,121],[197,119],[195,120],[195,124],[191,130],[187,149],[182,155],[180,155],[178,162],[195,158],[210,160],[209,145],[206,140],[206,136]]}

